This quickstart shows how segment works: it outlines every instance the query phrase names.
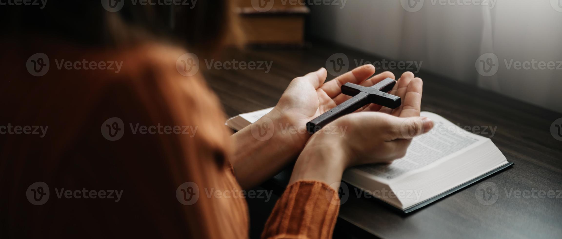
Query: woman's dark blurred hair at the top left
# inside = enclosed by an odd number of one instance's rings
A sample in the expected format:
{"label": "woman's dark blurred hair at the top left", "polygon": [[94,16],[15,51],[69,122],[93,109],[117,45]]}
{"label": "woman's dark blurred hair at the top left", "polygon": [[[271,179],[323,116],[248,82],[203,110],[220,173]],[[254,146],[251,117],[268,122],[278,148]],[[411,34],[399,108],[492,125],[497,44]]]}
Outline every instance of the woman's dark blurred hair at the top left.
{"label": "woman's dark blurred hair at the top left", "polygon": [[102,47],[170,39],[198,54],[241,41],[230,0],[30,2],[39,5],[0,7],[2,38],[46,37]]}

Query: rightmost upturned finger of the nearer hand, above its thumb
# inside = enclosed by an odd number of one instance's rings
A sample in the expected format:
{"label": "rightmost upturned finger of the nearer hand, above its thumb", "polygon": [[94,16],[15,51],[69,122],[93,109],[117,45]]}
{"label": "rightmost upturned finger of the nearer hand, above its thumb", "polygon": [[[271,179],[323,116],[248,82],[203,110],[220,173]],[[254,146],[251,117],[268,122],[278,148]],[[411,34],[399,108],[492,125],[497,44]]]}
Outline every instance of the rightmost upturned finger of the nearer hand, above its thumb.
{"label": "rightmost upturned finger of the nearer hand, above its thumb", "polygon": [[402,105],[400,106],[400,113],[397,116],[400,117],[414,117],[420,116],[420,110],[422,107],[422,91],[423,91],[423,81],[420,78],[414,78],[411,80],[407,87],[405,96],[402,100]]}

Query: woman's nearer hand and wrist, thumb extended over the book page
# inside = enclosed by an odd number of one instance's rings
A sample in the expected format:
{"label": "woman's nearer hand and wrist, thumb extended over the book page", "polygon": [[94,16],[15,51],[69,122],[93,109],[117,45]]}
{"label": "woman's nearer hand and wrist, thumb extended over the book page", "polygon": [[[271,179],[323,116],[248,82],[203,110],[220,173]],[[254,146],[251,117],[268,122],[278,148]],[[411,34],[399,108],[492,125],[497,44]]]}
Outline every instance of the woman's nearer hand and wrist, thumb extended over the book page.
{"label": "woman's nearer hand and wrist, thumb extended over the book page", "polygon": [[403,74],[391,91],[402,98],[397,109],[369,105],[364,112],[342,116],[324,128],[328,130],[316,132],[298,157],[291,182],[312,179],[336,183],[332,186],[337,188],[343,170],[350,166],[403,157],[409,139],[433,127],[433,121],[419,117],[423,83],[413,76]]}

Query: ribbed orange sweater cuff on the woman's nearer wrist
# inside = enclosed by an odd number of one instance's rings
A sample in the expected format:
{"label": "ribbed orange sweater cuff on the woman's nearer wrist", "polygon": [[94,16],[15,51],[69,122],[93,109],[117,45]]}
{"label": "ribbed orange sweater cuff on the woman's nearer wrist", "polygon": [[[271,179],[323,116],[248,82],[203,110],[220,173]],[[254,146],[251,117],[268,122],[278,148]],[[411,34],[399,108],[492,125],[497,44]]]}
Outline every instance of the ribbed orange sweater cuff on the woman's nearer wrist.
{"label": "ribbed orange sweater cuff on the woman's nearer wrist", "polygon": [[339,196],[328,184],[297,181],[275,204],[262,238],[332,238]]}

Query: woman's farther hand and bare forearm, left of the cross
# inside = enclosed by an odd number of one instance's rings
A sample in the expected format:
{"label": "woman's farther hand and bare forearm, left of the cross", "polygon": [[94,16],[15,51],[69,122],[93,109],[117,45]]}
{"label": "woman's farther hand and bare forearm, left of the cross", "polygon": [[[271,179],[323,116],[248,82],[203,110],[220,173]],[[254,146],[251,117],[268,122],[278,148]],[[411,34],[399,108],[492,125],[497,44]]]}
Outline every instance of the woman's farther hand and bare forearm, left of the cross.
{"label": "woman's farther hand and bare forearm, left of the cross", "polygon": [[306,123],[347,100],[341,85],[347,82],[370,87],[383,79],[392,78],[390,72],[375,73],[373,65],[364,65],[324,83],[324,68],[292,80],[277,106],[255,123],[235,133],[230,159],[238,183],[244,188],[256,186],[278,173],[292,161],[310,134]]}

